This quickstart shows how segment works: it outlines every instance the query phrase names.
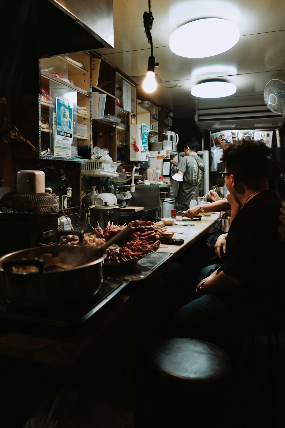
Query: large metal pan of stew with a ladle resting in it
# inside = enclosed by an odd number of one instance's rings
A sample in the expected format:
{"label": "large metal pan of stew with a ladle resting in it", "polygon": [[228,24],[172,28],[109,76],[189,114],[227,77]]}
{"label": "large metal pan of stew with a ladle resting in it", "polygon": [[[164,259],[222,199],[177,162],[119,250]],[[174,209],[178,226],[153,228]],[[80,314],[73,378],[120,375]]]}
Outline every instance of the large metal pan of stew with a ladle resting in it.
{"label": "large metal pan of stew with a ladle resting in it", "polygon": [[[56,305],[93,296],[103,281],[102,262],[107,256],[106,248],[129,235],[134,230],[131,226],[137,225],[138,222],[130,223],[100,248],[59,245],[29,248],[2,256],[0,281],[3,297],[15,306],[33,307]],[[60,257],[61,263],[72,267],[49,270],[41,259],[46,253],[52,254],[53,258]],[[33,265],[36,272],[13,271],[13,267],[21,265]]]}

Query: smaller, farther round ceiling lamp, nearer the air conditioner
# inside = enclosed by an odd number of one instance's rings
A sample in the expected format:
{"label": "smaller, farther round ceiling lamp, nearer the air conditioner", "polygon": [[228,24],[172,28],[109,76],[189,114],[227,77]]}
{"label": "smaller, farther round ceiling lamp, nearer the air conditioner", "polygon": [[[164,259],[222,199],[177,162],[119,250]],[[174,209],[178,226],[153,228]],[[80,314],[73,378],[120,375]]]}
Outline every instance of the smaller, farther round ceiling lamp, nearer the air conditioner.
{"label": "smaller, farther round ceiling lamp, nearer the air conditioner", "polygon": [[214,80],[193,86],[191,95],[198,98],[222,98],[234,94],[236,90],[236,86],[232,83]]}

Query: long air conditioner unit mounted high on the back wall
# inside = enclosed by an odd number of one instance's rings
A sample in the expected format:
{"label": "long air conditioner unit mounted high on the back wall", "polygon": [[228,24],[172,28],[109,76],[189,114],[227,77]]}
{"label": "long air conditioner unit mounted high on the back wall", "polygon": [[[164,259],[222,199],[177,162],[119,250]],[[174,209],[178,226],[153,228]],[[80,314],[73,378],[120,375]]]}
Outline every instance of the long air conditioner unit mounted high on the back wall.
{"label": "long air conditioner unit mounted high on the back wall", "polygon": [[196,110],[195,122],[203,131],[231,129],[279,129],[285,115],[275,114],[266,105]]}

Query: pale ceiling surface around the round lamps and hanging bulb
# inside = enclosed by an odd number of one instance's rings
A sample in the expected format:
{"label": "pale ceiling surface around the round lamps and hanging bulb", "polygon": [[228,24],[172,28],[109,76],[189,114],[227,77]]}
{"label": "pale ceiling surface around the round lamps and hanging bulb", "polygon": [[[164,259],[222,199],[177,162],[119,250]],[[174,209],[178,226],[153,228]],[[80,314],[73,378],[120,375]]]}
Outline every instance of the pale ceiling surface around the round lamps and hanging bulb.
{"label": "pale ceiling surface around the round lamps and hanging bulb", "polygon": [[[145,75],[150,44],[144,33],[143,15],[148,12],[148,0],[114,0],[113,7],[115,48],[98,53],[130,77]],[[266,83],[271,79],[285,80],[285,0],[152,0],[151,12],[153,55],[159,62],[156,74],[165,83],[159,83],[152,94],[138,86],[139,99],[164,105],[182,118],[194,116],[198,109],[264,105]],[[170,51],[169,37],[177,27],[209,17],[238,24],[241,37],[233,48],[196,59]],[[199,43],[199,37],[189,43]],[[230,70],[226,71],[225,66]],[[204,69],[193,77],[200,67],[211,67],[212,71]],[[191,87],[206,77],[226,78],[237,86],[237,91],[223,98],[194,98]]]}

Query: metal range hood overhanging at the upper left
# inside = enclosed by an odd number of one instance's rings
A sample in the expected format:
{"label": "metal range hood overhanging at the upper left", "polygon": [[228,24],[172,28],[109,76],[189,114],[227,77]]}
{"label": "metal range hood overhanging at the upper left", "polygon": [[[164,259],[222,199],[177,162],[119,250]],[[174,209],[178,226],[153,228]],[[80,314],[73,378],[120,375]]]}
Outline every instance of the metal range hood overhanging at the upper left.
{"label": "metal range hood overhanging at the upper left", "polygon": [[42,0],[41,56],[114,48],[112,0]]}

